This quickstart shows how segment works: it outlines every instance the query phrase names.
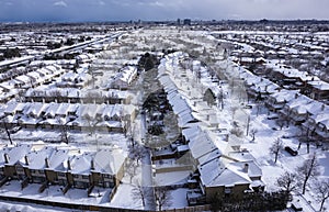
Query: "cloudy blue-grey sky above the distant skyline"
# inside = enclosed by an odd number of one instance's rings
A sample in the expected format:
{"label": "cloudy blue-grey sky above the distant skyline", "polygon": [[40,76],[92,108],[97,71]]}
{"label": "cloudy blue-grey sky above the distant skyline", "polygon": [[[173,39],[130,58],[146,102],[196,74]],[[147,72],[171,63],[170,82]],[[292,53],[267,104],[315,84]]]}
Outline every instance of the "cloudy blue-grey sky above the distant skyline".
{"label": "cloudy blue-grey sky above the distant skyline", "polygon": [[0,0],[0,22],[329,20],[329,0]]}

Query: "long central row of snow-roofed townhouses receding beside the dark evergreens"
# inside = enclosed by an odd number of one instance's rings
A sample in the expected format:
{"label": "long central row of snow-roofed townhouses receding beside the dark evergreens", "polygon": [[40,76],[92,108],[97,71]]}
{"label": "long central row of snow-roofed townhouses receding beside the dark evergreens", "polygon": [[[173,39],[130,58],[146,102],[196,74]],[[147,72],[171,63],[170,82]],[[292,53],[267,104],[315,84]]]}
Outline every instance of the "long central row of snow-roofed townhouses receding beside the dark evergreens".
{"label": "long central row of snow-roofed townhouses receding beside the dark evergreens", "polygon": [[[184,57],[181,53],[166,56],[158,68],[158,78],[177,115],[184,141],[181,146],[184,146],[184,155],[192,167],[192,177],[189,179],[192,190],[186,194],[189,204],[211,202],[215,196],[242,198],[247,191],[262,190],[262,171],[252,155],[240,149],[239,145],[228,145],[229,130],[222,129],[223,133],[218,134],[218,126],[225,127],[227,124],[222,124],[212,105],[203,100],[204,93],[188,83],[193,78],[193,71],[171,68],[172,64],[179,64],[178,60]],[[174,71],[181,71],[179,75],[182,76],[175,77]],[[186,83],[183,82],[177,89],[179,80],[185,80]],[[202,81],[217,93],[217,86],[213,87],[206,79],[202,79],[201,83]],[[227,149],[230,150],[227,153]]]}

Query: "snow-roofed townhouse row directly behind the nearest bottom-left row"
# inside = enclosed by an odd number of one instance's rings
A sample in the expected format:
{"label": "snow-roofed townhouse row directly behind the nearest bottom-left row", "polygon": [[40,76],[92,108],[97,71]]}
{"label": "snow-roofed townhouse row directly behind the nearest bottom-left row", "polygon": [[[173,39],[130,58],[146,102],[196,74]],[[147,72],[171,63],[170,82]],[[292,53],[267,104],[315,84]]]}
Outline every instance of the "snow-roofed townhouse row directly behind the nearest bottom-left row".
{"label": "snow-roofed townhouse row directly behind the nearest bottom-left row", "polygon": [[11,101],[1,111],[8,126],[26,129],[71,130],[97,129],[109,132],[125,132],[125,127],[135,120],[132,104],[80,104],[80,103],[43,103]]}

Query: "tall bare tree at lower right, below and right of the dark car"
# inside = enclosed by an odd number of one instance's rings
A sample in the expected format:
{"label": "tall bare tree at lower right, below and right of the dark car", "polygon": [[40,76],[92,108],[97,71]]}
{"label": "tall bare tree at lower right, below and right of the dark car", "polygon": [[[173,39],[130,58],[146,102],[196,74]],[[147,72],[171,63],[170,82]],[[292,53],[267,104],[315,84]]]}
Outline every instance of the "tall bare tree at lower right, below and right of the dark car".
{"label": "tall bare tree at lower right, below and right of the dark car", "polygon": [[319,175],[319,164],[317,159],[317,155],[313,154],[304,164],[297,167],[298,176],[303,181],[303,194],[305,194],[306,185],[311,177],[316,177]]}

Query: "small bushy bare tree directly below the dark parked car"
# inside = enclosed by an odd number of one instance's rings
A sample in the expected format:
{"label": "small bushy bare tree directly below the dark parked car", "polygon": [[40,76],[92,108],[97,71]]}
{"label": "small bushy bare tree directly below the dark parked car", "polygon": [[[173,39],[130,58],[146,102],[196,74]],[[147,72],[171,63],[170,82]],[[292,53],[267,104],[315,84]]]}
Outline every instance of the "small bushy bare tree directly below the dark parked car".
{"label": "small bushy bare tree directly below the dark parked car", "polygon": [[281,175],[276,180],[276,185],[288,194],[300,187],[300,183],[297,179],[297,174],[290,171],[285,171],[283,175]]}

